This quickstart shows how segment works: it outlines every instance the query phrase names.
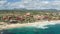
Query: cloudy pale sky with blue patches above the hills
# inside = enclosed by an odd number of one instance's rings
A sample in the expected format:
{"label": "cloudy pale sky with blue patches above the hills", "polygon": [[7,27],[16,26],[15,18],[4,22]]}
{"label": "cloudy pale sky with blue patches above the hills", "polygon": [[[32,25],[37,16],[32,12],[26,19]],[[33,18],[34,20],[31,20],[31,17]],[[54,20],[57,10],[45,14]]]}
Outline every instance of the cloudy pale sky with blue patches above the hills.
{"label": "cloudy pale sky with blue patches above the hills", "polygon": [[21,8],[60,10],[60,0],[0,0],[0,10]]}

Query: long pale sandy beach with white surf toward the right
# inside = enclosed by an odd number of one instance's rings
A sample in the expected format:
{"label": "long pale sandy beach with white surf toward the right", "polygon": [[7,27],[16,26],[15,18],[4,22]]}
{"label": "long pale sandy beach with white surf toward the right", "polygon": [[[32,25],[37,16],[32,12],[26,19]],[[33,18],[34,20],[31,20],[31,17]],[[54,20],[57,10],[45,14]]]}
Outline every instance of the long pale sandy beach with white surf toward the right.
{"label": "long pale sandy beach with white surf toward the right", "polygon": [[[55,23],[54,23],[55,22]],[[45,26],[45,25],[55,25],[55,24],[60,24],[60,20],[52,20],[52,21],[38,21],[38,22],[34,22],[34,23],[24,23],[24,24],[9,24],[9,25],[5,25],[5,26],[0,26],[0,30],[3,29],[9,29],[9,28],[18,28],[18,27],[26,27],[26,26]]]}

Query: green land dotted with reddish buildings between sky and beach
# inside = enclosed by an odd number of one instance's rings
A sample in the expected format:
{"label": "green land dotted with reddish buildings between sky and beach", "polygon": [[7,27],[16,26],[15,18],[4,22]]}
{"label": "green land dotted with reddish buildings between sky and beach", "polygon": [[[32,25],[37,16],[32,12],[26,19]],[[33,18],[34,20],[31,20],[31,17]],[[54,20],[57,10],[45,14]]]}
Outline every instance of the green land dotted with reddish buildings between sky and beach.
{"label": "green land dotted with reddish buildings between sky and beach", "polygon": [[60,12],[57,10],[0,10],[0,22],[10,23],[10,20],[19,23],[60,20]]}

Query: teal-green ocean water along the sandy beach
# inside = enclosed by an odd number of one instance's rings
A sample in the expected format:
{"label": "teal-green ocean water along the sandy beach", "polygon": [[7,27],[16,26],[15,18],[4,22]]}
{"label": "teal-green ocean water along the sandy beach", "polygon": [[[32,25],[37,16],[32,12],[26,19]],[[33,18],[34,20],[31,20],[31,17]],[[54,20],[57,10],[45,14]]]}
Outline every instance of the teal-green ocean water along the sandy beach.
{"label": "teal-green ocean water along the sandy beach", "polygon": [[2,34],[60,34],[60,24],[46,25],[48,28],[19,27],[2,30]]}

